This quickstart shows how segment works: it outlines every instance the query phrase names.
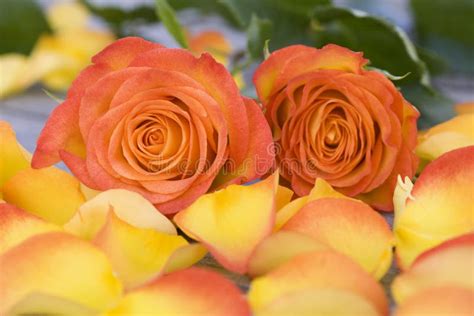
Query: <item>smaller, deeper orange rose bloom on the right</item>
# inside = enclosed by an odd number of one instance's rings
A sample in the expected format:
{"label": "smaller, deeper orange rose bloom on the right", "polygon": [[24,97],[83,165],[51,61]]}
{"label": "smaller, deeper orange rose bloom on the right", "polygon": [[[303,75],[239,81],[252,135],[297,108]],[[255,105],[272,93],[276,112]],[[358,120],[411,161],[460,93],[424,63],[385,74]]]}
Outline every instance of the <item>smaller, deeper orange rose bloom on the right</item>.
{"label": "smaller, deeper orange rose bloom on the right", "polygon": [[397,175],[418,160],[418,111],[361,53],[337,45],[273,52],[254,83],[277,143],[281,173],[298,195],[317,178],[392,210]]}

